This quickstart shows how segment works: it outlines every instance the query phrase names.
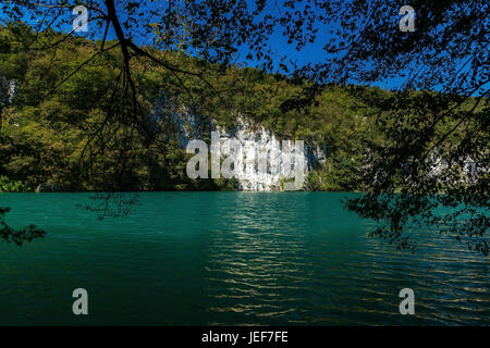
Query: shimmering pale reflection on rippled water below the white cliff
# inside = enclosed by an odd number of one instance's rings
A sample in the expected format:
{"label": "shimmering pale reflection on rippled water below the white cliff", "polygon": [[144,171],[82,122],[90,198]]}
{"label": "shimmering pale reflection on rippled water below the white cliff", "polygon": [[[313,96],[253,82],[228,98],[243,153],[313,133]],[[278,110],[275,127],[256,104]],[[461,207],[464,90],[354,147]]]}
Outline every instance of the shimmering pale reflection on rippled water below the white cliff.
{"label": "shimmering pale reflection on rippled water below the white cliff", "polygon": [[313,274],[313,262],[305,256],[305,201],[281,206],[275,197],[242,192],[228,201],[233,210],[222,214],[223,209],[217,209],[221,216],[213,220],[222,219],[225,228],[220,225],[210,233],[207,293],[212,299],[209,311],[223,322],[212,324],[225,323],[230,314],[264,323],[299,310]]}

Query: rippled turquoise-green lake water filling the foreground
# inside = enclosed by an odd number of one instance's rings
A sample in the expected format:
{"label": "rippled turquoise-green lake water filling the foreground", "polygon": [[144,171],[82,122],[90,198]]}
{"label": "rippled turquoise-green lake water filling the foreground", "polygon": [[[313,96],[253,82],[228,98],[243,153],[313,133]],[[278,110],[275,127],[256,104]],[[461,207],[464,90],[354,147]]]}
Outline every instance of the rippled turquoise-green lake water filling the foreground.
{"label": "rippled turquoise-green lake water filling the foreground", "polygon": [[488,258],[430,231],[396,251],[345,195],[144,192],[105,220],[89,194],[0,195],[9,225],[48,233],[0,241],[0,325],[490,325]]}

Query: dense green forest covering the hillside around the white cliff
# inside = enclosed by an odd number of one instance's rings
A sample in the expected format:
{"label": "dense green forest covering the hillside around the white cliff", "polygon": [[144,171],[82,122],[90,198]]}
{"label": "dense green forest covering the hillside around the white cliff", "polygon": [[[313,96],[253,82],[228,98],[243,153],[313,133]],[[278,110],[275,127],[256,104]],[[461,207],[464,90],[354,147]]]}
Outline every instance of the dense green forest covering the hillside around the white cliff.
{"label": "dense green forest covering the hillside around the white cliff", "polygon": [[[53,42],[54,50],[46,49]],[[100,54],[90,60],[97,51]],[[377,129],[379,110],[367,107],[359,96],[376,94],[388,100],[390,92],[352,87],[353,94],[348,86],[319,86],[236,65],[213,66],[184,52],[152,53],[186,71],[208,67],[206,84],[188,78],[184,90],[168,70],[151,61],[138,62],[133,69],[138,89],[145,91],[142,104],[145,112],[158,109],[160,115],[148,124],[151,141],[136,136],[131,151],[121,151],[130,138],[127,129],[103,117],[121,98],[117,89],[108,94],[121,78],[121,53],[82,37],[50,30],[35,34],[23,24],[2,27],[0,191],[33,191],[39,185],[73,191],[233,189],[233,181],[186,176],[188,154],[179,147],[164,114],[179,108],[222,126],[244,115],[281,139],[303,139],[324,149],[327,161],[308,174],[305,189],[362,189],[355,176],[366,157],[364,144],[383,139]],[[135,141],[134,134],[131,139]],[[123,161],[122,156],[128,158]]]}

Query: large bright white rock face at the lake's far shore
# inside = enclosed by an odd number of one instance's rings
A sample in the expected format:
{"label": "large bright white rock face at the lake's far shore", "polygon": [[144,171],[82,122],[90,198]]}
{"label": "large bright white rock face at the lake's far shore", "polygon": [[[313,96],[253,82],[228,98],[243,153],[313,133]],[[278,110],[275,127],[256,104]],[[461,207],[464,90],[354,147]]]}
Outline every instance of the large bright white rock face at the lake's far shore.
{"label": "large bright white rock face at the lake's far shore", "polygon": [[[298,148],[298,141],[295,144],[291,141],[290,147],[284,147],[282,140],[289,139],[279,139],[271,130],[266,129],[261,125],[253,124],[240,115],[235,117],[236,121],[230,128],[217,125],[215,120],[203,120],[185,109],[156,109],[154,121],[162,121],[162,115],[164,115],[166,121],[170,121],[174,126],[175,136],[182,149],[185,149],[193,139],[205,140],[208,148],[211,149],[211,133],[219,132],[221,159],[223,159],[230,153],[228,151],[226,156],[224,156],[223,149],[226,150],[226,146],[230,144],[238,142],[241,146],[237,148],[237,153],[235,153],[235,157],[238,159],[235,162],[237,165],[235,178],[241,190],[282,190],[285,181],[297,182],[294,179],[295,175],[297,176],[298,174],[295,171],[302,171],[304,177],[306,177],[310,170],[317,167],[326,160],[324,149],[320,149],[311,141],[305,139],[303,149]],[[270,150],[270,146],[273,144],[281,145],[278,148],[279,151]],[[258,159],[264,153],[267,157],[267,170],[259,171]],[[284,160],[287,157],[289,160]],[[210,157],[209,161],[211,162]],[[279,166],[270,163],[279,163]],[[297,189],[301,188],[298,187]]]}

